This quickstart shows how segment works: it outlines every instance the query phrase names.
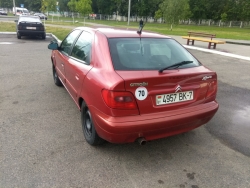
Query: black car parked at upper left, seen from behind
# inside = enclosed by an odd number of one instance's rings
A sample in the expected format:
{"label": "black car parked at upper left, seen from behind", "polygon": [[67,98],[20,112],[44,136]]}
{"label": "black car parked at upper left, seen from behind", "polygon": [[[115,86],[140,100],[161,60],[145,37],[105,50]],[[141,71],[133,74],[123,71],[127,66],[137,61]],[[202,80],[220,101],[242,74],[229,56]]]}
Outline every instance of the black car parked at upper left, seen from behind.
{"label": "black car parked at upper left, seen from behind", "polygon": [[22,36],[36,36],[46,38],[46,31],[43,22],[38,16],[20,15],[17,22],[16,31],[17,38],[21,39]]}

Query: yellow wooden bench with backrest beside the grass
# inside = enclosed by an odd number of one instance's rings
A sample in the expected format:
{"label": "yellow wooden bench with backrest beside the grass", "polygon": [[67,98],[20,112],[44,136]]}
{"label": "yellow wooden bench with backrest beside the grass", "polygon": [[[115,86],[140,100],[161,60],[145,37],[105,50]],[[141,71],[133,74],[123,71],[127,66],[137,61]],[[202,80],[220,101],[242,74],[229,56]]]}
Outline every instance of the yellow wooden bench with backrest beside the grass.
{"label": "yellow wooden bench with backrest beside the grass", "polygon": [[216,37],[215,34],[209,34],[209,33],[197,33],[197,32],[188,32],[188,36],[182,36],[183,39],[187,39],[187,45],[189,43],[192,43],[194,45],[194,41],[201,41],[201,42],[208,42],[208,49],[213,47],[213,49],[216,48],[216,44],[224,44],[225,41],[220,40],[214,40]]}

